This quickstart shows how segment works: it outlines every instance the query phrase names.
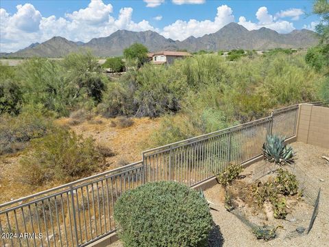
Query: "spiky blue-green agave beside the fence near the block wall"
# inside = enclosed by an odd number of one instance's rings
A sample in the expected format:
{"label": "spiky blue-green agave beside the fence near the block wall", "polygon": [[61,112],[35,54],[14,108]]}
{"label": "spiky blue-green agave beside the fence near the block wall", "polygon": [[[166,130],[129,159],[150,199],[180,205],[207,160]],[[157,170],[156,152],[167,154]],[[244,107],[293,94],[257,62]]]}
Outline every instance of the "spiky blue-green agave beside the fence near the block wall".
{"label": "spiky blue-green agave beside the fence near the block wall", "polygon": [[295,153],[291,146],[284,144],[284,137],[277,135],[267,136],[263,144],[263,154],[265,159],[278,165],[295,163]]}

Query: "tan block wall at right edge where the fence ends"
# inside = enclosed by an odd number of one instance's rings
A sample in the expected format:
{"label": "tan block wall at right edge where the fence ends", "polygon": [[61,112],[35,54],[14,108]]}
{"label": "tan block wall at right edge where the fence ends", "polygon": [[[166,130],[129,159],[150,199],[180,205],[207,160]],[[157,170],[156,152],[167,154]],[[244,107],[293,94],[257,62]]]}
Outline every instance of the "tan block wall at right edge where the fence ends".
{"label": "tan block wall at right edge where the fence ends", "polygon": [[329,108],[300,105],[297,141],[329,148]]}

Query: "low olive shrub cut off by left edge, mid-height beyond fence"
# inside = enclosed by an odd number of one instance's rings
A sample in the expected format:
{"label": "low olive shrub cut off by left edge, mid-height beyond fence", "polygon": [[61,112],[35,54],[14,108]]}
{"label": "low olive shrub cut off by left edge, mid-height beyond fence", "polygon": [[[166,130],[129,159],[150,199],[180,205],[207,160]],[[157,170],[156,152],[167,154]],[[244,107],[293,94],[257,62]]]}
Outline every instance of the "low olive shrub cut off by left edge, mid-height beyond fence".
{"label": "low olive shrub cut off by left edge, mid-height beyond fence", "polygon": [[32,139],[43,137],[53,130],[52,119],[42,113],[23,112],[17,117],[0,116],[0,155],[25,148]]}

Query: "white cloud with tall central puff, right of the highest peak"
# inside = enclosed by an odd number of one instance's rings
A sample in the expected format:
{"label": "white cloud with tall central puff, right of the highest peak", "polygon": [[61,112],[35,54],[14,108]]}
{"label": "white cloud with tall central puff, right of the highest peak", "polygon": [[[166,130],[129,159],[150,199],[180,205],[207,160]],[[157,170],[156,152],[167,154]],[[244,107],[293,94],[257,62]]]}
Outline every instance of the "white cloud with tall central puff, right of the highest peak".
{"label": "white cloud with tall central puff, right of the highest peak", "polygon": [[279,33],[289,33],[295,30],[293,23],[273,18],[273,16],[267,11],[266,7],[260,7],[258,9],[256,12],[256,18],[258,19],[258,23],[247,21],[245,16],[240,16],[238,24],[243,25],[247,30],[258,30],[261,27],[267,27]]}

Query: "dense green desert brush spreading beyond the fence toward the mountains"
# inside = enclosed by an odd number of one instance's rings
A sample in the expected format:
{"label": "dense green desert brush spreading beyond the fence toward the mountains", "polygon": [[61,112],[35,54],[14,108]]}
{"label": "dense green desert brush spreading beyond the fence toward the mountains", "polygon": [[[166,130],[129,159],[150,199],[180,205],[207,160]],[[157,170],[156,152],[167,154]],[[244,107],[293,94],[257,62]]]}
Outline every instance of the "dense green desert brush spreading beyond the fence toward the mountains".
{"label": "dense green desert brush spreading beyond the fence toward the mountains", "polygon": [[[31,168],[29,161],[34,161],[42,171],[58,162],[61,177],[32,179],[36,185],[67,181],[103,169],[102,157],[114,155],[101,149],[103,155],[97,143],[70,130],[84,122],[101,124],[97,115],[116,118],[110,126],[128,130],[134,128],[131,117],[159,118],[159,127],[141,143],[151,148],[252,121],[280,106],[328,100],[328,10],[321,4],[314,9],[323,20],[317,30],[321,43],[308,51],[273,49],[259,55],[232,50],[227,56],[199,51],[171,65],[152,66],[147,47],[134,44],[125,49],[124,63],[110,58],[103,65],[114,71],[125,66],[115,80],[90,51],[63,60],[32,58],[17,67],[1,64],[0,154],[24,152],[18,167]],[[55,123],[61,117],[70,117],[68,126]],[[77,156],[86,154],[79,171],[70,167],[80,161],[62,152],[70,148]]]}

